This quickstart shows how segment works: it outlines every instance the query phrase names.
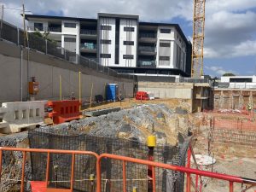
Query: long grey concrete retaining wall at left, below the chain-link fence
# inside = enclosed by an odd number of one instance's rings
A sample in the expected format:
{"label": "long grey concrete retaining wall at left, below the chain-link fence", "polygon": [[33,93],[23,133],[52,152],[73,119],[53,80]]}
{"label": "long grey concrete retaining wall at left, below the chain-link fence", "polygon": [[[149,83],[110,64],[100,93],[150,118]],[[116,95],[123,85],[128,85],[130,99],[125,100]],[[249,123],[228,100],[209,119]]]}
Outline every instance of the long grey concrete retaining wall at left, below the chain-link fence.
{"label": "long grey concrete retaining wall at left, below the chain-link fence", "polygon": [[[21,49],[16,44],[0,41],[0,103],[27,101],[27,84],[35,77],[39,83],[39,92],[36,100],[59,99],[60,75],[62,79],[62,97],[69,98],[72,93],[79,97],[79,71],[81,74],[82,97],[89,100],[91,84],[93,84],[93,98],[95,95],[104,96],[105,84],[119,84],[124,89],[122,93],[133,96],[133,80],[119,79],[96,72],[90,68],[75,65],[67,61],[44,55],[37,51],[29,51],[29,63],[27,63],[27,50],[23,51],[22,74],[20,73]],[[21,79],[22,76],[22,79]],[[22,86],[21,86],[22,80]]]}

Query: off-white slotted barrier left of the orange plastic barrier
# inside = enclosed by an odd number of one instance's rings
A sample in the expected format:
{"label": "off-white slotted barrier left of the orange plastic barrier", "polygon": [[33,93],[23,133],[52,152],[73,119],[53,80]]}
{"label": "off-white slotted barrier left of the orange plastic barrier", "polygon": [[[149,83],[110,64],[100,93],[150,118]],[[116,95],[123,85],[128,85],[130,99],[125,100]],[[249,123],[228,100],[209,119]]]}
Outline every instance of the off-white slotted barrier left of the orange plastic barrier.
{"label": "off-white slotted barrier left of the orange plastic barrier", "polygon": [[43,123],[46,104],[47,101],[3,102],[0,115],[3,113],[3,123],[9,126],[0,131],[3,133],[20,132],[21,129],[32,128]]}

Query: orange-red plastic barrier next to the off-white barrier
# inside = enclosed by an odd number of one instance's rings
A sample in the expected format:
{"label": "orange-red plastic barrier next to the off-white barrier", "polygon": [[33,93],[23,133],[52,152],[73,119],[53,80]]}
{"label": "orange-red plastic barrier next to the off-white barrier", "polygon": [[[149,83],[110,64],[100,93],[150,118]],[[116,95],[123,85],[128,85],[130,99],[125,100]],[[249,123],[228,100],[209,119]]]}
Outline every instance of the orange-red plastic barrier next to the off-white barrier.
{"label": "orange-red plastic barrier next to the off-white barrier", "polygon": [[80,119],[79,100],[49,101],[48,106],[52,108],[48,116],[53,119],[54,124]]}

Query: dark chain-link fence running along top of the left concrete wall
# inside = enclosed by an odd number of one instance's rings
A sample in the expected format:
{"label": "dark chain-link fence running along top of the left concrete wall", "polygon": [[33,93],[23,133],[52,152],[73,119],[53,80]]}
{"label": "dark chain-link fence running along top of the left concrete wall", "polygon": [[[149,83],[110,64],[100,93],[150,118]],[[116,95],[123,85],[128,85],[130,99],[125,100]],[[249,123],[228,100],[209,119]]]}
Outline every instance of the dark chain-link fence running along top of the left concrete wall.
{"label": "dark chain-link fence running along top of the left concrete wall", "polygon": [[[24,38],[27,40],[24,41]],[[55,56],[57,58],[63,59],[65,61],[72,62],[74,64],[82,65],[83,67],[89,67],[90,69],[96,70],[99,73],[105,73],[107,75],[122,78],[122,79],[133,79],[134,75],[130,74],[119,74],[109,67],[104,67],[94,60],[90,60],[84,56],[77,55],[75,52],[63,49],[61,46],[54,41],[49,41],[45,38],[41,38],[32,32],[27,32],[24,34],[23,30],[17,26],[13,26],[8,22],[3,21],[3,27],[0,31],[0,39],[24,46],[29,49],[36,50],[38,52],[44,53],[46,55]]]}

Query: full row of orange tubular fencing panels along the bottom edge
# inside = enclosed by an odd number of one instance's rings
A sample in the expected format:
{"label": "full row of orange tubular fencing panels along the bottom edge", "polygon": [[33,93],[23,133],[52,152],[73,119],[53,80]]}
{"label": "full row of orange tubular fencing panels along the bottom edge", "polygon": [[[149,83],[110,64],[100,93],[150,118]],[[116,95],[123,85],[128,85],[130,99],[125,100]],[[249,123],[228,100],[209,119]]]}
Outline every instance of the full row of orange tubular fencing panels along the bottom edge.
{"label": "full row of orange tubular fencing panels along the bottom edge", "polygon": [[[248,188],[247,189],[252,189],[253,186],[256,185],[256,180],[255,179],[250,179],[250,178],[245,178],[245,177],[236,177],[236,176],[231,176],[231,175],[226,175],[226,174],[221,174],[221,173],[216,173],[216,172],[205,172],[205,171],[201,171],[198,169],[191,169],[189,168],[189,162],[188,162],[188,166],[184,167],[184,166],[173,166],[173,165],[168,165],[168,164],[164,164],[164,163],[160,163],[160,162],[153,162],[150,160],[139,160],[136,158],[131,158],[131,157],[125,157],[125,156],[121,156],[121,155],[116,155],[116,154],[95,154],[93,152],[90,151],[71,151],[71,150],[55,150],[55,149],[38,149],[38,148],[0,148],[0,183],[3,184],[3,175],[2,175],[2,170],[4,170],[4,168],[6,168],[7,164],[9,163],[6,160],[6,155],[7,153],[12,153],[14,152],[15,154],[20,154],[21,153],[21,175],[20,175],[20,187],[16,186],[16,190],[18,190],[20,188],[20,192],[24,192],[25,191],[25,185],[28,183],[28,177],[26,176],[26,169],[27,169],[27,165],[26,165],[26,157],[28,154],[26,154],[27,152],[31,153],[31,154],[35,154],[35,153],[39,153],[39,154],[47,154],[47,160],[46,160],[46,164],[44,167],[46,167],[46,173],[44,174],[44,182],[47,184],[47,192],[78,192],[81,190],[78,189],[74,189],[74,183],[78,182],[77,180],[75,180],[75,159],[76,156],[79,154],[83,154],[83,155],[90,155],[90,156],[94,156],[96,158],[96,179],[94,177],[90,177],[90,179],[88,179],[90,181],[90,189],[83,189],[82,191],[90,191],[90,192],[102,192],[102,191],[131,191],[129,188],[128,183],[131,181],[130,179],[127,179],[127,173],[130,172],[130,167],[127,166],[128,163],[132,163],[135,167],[141,165],[141,166],[147,166],[147,167],[151,167],[152,170],[152,177],[148,177],[148,180],[150,180],[150,185],[151,188],[147,189],[146,186],[136,186],[136,189],[139,189],[137,191],[150,191],[150,192],[156,192],[156,191],[166,191],[164,188],[161,188],[160,190],[158,189],[158,187],[160,186],[160,183],[158,183],[158,173],[156,172],[157,169],[161,169],[164,172],[169,170],[169,171],[173,171],[173,172],[183,172],[187,174],[187,187],[186,187],[186,191],[187,192],[191,192],[191,184],[192,186],[195,186],[195,191],[199,191],[197,188],[197,184],[195,184],[194,182],[192,182],[192,178],[191,175],[195,175],[195,177],[197,178],[198,176],[201,177],[212,177],[212,178],[217,178],[217,179],[221,179],[224,181],[228,181],[229,182],[229,187],[230,187],[230,192],[234,192],[234,189],[236,186],[234,186],[234,183],[246,183],[248,184]],[[53,182],[52,180],[49,179],[50,176],[50,156],[52,154],[70,154],[72,155],[72,162],[71,164],[67,164],[66,166],[71,166],[71,173],[70,173],[70,177],[69,180],[67,181],[58,181],[58,182],[65,182],[65,183],[70,183],[69,187],[66,188],[60,188],[60,185],[56,186],[56,181],[54,181],[55,186],[50,187],[49,186],[49,181]],[[3,159],[3,157],[5,156],[5,158]],[[188,159],[190,159],[190,155],[188,154]],[[105,182],[103,182],[104,180],[102,180],[102,161],[107,161],[108,160],[118,160],[121,162],[122,167],[120,167],[120,171],[119,171],[119,178],[116,180],[116,182],[119,182],[119,186],[117,189],[113,189],[113,186],[111,185],[111,180],[105,180]],[[88,166],[90,168],[90,166]],[[88,168],[87,167],[87,168]],[[67,172],[66,172],[67,173]],[[38,172],[38,174],[42,175],[42,172]],[[86,179],[84,179],[86,180]],[[132,181],[134,180],[134,177],[132,177]],[[161,182],[161,181],[160,181]],[[180,183],[178,183],[180,184]],[[134,185],[134,183],[132,183],[132,185]],[[3,185],[2,185],[3,186]],[[36,192],[35,190],[37,190],[37,192],[44,192],[44,183],[32,183],[32,192]],[[36,187],[36,188],[35,188]],[[38,188],[37,188],[38,187]],[[134,189],[134,188],[133,188]],[[246,191],[247,189],[242,189],[241,191]],[[16,191],[15,190],[15,191]],[[30,190],[30,189],[29,189]],[[39,190],[39,191],[38,191]],[[41,191],[40,191],[41,190]],[[43,190],[43,191],[42,191]],[[133,190],[134,191],[134,190]],[[173,191],[168,189],[167,191]],[[181,190],[176,190],[176,191],[183,191],[183,189]],[[201,191],[201,184],[200,184],[200,191]]]}

